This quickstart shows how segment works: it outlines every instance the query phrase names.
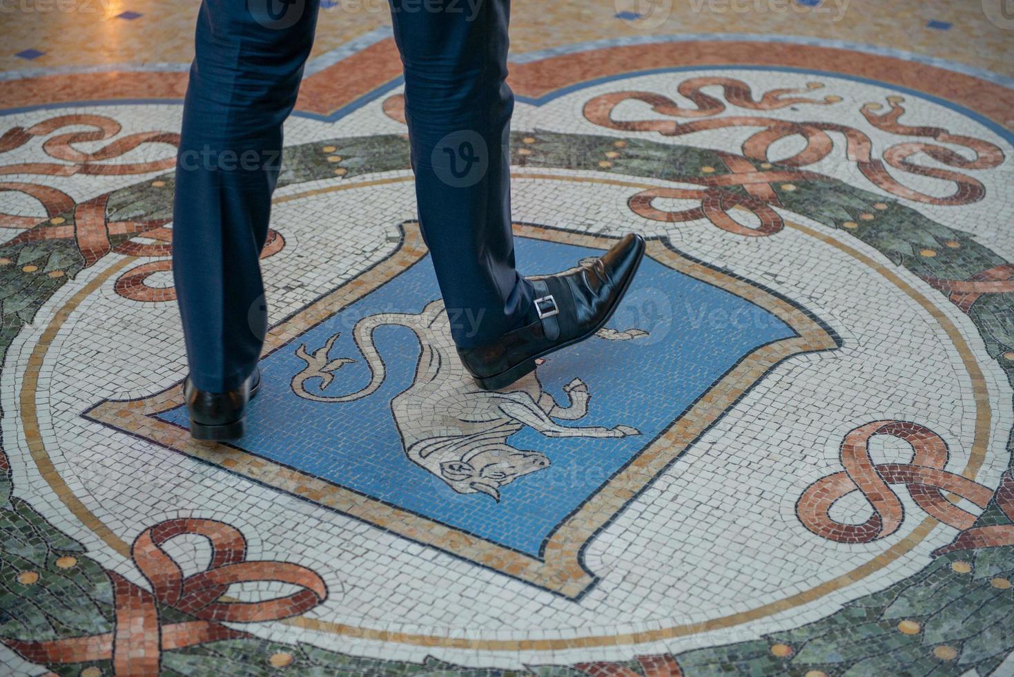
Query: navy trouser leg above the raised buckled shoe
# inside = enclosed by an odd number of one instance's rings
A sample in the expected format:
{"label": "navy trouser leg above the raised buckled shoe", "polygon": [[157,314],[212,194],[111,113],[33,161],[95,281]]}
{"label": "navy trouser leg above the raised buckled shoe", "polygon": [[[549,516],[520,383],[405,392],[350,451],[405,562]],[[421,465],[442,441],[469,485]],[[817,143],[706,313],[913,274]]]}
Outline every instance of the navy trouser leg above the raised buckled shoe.
{"label": "navy trouser leg above the raised buckled shoe", "polygon": [[390,0],[423,236],[458,347],[529,319],[514,268],[509,0]]}

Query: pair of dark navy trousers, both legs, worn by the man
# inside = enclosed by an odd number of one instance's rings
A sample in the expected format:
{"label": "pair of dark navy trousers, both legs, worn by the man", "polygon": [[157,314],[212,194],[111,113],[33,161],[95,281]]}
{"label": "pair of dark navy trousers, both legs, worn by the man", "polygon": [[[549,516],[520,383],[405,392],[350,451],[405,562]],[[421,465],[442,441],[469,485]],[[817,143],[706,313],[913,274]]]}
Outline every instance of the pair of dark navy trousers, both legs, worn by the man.
{"label": "pair of dark navy trousers, both legs, worn by the man", "polygon": [[[282,123],[295,105],[317,1],[204,0],[201,6],[173,213],[173,273],[191,377],[201,390],[238,387],[260,355],[267,314],[259,257]],[[391,10],[405,63],[420,222],[454,339],[467,347],[519,326],[531,287],[514,269],[510,230],[509,5],[445,2],[447,11],[434,11],[439,0],[412,9],[392,0]],[[286,8],[279,16],[269,13],[279,7]],[[481,172],[458,176],[477,161]]]}

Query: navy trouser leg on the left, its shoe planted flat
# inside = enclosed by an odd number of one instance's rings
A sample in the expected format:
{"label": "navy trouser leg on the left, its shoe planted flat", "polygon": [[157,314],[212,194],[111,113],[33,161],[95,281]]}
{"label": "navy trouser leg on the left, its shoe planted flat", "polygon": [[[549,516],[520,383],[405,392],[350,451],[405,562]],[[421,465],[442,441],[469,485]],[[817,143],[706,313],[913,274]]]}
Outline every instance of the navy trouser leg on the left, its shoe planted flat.
{"label": "navy trouser leg on the left, its shoe planted flat", "polygon": [[184,108],[172,270],[191,381],[240,387],[267,328],[260,255],[317,0],[204,0]]}

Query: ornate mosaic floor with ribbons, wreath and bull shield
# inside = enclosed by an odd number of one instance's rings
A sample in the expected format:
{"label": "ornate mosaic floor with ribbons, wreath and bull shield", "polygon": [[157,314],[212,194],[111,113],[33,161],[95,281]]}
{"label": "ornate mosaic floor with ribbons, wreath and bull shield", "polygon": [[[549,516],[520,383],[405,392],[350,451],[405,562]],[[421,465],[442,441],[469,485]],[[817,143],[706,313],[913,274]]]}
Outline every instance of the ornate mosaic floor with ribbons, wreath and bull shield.
{"label": "ornate mosaic floor with ribbons, wreath and bull shield", "polygon": [[1014,8],[690,4],[516,3],[523,272],[649,247],[604,330],[484,395],[387,17],[332,3],[230,446],[180,411],[194,7],[19,5],[0,673],[1014,675]]}

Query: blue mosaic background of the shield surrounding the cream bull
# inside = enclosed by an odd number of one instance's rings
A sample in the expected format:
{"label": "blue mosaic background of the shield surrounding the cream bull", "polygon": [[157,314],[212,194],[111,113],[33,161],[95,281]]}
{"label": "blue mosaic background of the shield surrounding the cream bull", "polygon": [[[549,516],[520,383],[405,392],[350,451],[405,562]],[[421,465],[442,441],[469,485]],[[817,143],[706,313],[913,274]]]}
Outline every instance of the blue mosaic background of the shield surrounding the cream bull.
{"label": "blue mosaic background of the shield surrounding the cream bull", "polygon": [[[516,249],[524,274],[559,270],[561,262],[600,254],[597,250],[520,238]],[[290,388],[292,377],[305,367],[295,349],[305,343],[309,351],[316,350],[341,331],[330,357],[355,357],[357,361],[342,366],[335,382],[321,394],[358,391],[369,382],[370,373],[352,339],[356,321],[380,312],[420,313],[438,296],[436,277],[426,257],[267,356],[261,363],[262,393],[250,405],[247,432],[236,446],[539,556],[544,541],[568,515],[731,366],[762,345],[794,336],[791,328],[766,310],[645,259],[627,299],[609,324],[617,330],[638,328],[649,335],[626,341],[595,337],[553,353],[538,369],[542,387],[558,402],[567,401],[563,387],[575,377],[588,386],[588,414],[565,424],[628,425],[641,434],[547,437],[529,427],[522,428],[508,438],[508,444],[518,450],[542,452],[552,465],[505,485],[497,502],[482,493],[455,492],[414,464],[403,450],[390,401],[412,385],[415,375],[419,344],[411,329],[385,326],[374,332],[374,342],[388,374],[371,396],[348,403],[320,403],[300,398]],[[184,408],[160,416],[187,425]]]}

